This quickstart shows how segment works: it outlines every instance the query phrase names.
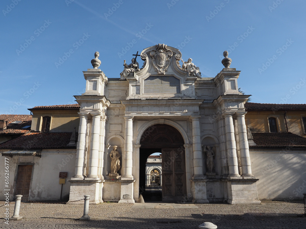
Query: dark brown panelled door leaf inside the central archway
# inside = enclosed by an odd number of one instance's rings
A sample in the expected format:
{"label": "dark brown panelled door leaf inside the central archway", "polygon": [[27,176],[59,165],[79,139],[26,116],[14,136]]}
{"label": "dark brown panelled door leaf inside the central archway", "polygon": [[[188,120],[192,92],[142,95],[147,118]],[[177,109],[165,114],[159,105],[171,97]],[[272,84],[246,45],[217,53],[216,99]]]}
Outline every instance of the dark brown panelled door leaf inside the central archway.
{"label": "dark brown panelled door leaf inside the central archway", "polygon": [[162,201],[182,200],[185,180],[185,151],[162,149]]}

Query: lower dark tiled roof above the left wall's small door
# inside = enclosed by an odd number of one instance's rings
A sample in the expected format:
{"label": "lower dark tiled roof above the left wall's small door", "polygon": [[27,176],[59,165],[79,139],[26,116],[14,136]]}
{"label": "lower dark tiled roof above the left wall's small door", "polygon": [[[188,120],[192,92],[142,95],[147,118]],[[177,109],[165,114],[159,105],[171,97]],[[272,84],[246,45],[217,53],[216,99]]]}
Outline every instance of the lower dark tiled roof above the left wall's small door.
{"label": "lower dark tiled roof above the left wall's small door", "polygon": [[[0,144],[0,149],[64,149],[72,133],[28,133]],[[77,135],[76,135],[77,139]]]}

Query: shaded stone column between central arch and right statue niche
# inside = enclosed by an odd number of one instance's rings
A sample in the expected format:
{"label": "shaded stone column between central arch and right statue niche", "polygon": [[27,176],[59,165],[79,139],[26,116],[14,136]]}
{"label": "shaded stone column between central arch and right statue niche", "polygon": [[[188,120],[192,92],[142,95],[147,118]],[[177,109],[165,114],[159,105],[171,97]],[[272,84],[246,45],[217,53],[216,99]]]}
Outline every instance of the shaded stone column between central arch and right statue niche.
{"label": "shaded stone column between central arch and right statue niche", "polygon": [[191,117],[192,120],[192,148],[193,148],[193,176],[203,178],[203,160],[200,136],[200,117]]}

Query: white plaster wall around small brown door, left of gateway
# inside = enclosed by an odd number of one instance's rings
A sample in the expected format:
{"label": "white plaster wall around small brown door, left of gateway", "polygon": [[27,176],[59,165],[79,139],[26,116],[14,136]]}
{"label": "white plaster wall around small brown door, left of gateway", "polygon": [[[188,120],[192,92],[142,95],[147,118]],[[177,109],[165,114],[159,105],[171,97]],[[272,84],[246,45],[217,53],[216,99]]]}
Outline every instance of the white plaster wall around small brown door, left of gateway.
{"label": "white plaster wall around small brown door, left of gateway", "polygon": [[[64,151],[64,152],[63,152]],[[4,158],[0,157],[0,182],[4,184]],[[61,184],[59,184],[59,172],[68,172],[65,184],[63,184],[62,199],[68,199],[70,191],[69,179],[74,175],[76,150],[46,150],[42,151],[42,157],[34,157],[33,163],[18,163],[18,156],[9,158],[9,193],[13,199],[17,179],[17,164],[33,165],[32,180],[29,192],[29,200],[59,200]],[[0,190],[0,200],[4,200],[4,191]]]}

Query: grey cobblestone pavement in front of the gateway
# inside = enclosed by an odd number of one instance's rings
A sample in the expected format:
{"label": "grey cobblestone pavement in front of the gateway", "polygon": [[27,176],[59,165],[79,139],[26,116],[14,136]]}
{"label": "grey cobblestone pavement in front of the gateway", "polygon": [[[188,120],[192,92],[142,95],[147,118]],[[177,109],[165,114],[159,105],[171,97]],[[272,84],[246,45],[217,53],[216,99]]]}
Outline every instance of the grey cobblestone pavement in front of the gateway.
{"label": "grey cobblestone pavement in front of the gateway", "polygon": [[[0,202],[0,205],[4,202]],[[50,203],[21,203],[22,220],[5,224],[5,207],[0,228],[133,228],[170,229],[198,228],[203,222],[212,222],[220,228],[248,229],[306,229],[302,201],[266,201],[260,205],[224,203],[212,204],[118,204],[89,205],[90,221],[82,221],[84,205]],[[14,203],[9,204],[13,215]]]}

